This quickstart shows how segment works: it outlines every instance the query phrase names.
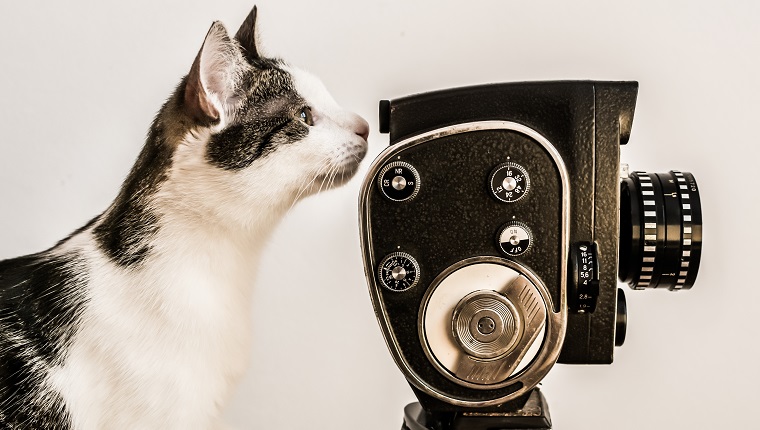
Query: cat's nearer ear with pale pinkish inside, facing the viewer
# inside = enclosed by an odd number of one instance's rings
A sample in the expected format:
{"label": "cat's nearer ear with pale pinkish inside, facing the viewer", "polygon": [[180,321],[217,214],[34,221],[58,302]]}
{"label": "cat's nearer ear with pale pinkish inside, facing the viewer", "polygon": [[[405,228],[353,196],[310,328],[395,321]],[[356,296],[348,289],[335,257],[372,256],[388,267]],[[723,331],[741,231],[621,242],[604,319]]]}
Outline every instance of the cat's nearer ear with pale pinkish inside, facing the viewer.
{"label": "cat's nearer ear with pale pinkish inside, facing the viewer", "polygon": [[221,112],[229,112],[238,100],[237,90],[245,60],[240,49],[216,21],[206,34],[187,76],[184,104],[194,120],[216,124]]}

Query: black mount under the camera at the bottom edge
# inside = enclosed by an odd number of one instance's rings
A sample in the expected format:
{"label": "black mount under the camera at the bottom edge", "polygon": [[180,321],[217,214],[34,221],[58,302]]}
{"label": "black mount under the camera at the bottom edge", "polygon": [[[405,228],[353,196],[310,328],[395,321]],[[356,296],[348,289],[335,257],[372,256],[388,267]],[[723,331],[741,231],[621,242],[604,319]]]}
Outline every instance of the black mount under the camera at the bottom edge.
{"label": "black mount under the camera at the bottom edge", "polygon": [[401,430],[515,430],[552,428],[549,406],[538,388],[520,408],[500,412],[430,412],[415,402],[404,408]]}

